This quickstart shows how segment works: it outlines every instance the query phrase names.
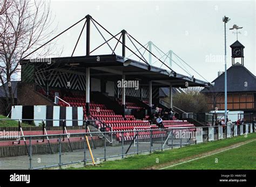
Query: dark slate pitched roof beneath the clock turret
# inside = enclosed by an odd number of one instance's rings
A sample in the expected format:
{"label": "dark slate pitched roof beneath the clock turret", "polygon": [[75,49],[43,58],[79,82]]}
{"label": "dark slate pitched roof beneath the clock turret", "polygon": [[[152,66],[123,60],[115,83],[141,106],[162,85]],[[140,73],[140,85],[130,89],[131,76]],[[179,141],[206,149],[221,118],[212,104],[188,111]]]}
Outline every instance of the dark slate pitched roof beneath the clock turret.
{"label": "dark slate pitched roof beneath the clock turret", "polygon": [[[214,86],[204,88],[201,92],[224,92],[225,73],[215,80]],[[227,69],[227,92],[253,92],[256,91],[256,77],[240,63],[235,63]]]}

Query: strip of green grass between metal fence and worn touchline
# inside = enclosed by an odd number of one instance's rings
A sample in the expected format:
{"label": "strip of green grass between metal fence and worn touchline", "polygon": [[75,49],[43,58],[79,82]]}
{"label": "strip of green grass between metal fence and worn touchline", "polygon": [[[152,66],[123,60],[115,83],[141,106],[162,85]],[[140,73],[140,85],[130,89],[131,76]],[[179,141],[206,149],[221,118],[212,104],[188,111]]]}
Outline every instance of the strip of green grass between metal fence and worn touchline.
{"label": "strip of green grass between metal fence and worn touchline", "polygon": [[[189,156],[206,153],[211,150],[234,145],[235,143],[244,142],[247,140],[256,139],[256,133],[248,134],[245,136],[237,136],[219,141],[200,143],[197,145],[190,145],[183,148],[165,150],[163,152],[157,151],[147,155],[134,155],[126,157],[122,160],[106,161],[99,166],[86,166],[81,168],[68,168],[68,169],[145,169],[159,164],[164,164],[172,161],[178,161]],[[224,153],[225,154],[225,153]],[[228,157],[227,157],[228,159]],[[158,163],[157,163],[158,162]]]}

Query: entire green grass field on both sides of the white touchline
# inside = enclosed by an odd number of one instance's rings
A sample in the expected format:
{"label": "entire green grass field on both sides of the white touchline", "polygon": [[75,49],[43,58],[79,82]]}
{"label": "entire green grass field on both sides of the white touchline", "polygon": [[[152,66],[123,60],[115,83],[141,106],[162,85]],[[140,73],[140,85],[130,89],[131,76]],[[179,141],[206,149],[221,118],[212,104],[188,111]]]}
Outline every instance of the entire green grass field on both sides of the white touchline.
{"label": "entire green grass field on both sides of the white touchline", "polygon": [[[200,143],[197,145],[185,146],[172,150],[157,151],[147,155],[134,155],[126,157],[122,160],[106,161],[100,163],[98,166],[86,166],[81,168],[70,167],[68,169],[161,169],[172,164],[183,162],[184,160],[191,160],[195,157],[200,157],[201,154],[209,152],[218,152],[219,149],[226,149],[237,143],[256,140],[256,133],[237,136],[235,138],[223,139],[219,141],[212,141]],[[177,167],[168,169],[255,169],[255,141],[239,148],[224,151],[220,154],[205,157],[190,165],[180,164]],[[250,149],[251,147],[251,149]],[[234,152],[237,153],[234,154]],[[215,164],[215,158],[218,163]],[[200,165],[198,163],[201,163]]]}

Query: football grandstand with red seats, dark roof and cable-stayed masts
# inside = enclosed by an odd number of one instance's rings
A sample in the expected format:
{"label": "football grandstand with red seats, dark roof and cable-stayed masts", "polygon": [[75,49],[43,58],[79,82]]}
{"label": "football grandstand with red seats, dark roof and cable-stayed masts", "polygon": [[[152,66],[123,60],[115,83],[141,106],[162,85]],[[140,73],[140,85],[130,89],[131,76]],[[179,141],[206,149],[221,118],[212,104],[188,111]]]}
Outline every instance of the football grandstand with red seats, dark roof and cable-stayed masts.
{"label": "football grandstand with red seats, dark roof and cable-stayed masts", "polygon": [[[91,55],[95,50],[91,51],[90,48],[90,22],[104,27],[90,15],[84,19],[85,56],[53,57],[51,64],[37,63],[28,58],[21,62],[17,105],[12,106],[11,119],[38,126],[24,128],[22,135],[47,133],[45,139],[48,141],[38,141],[36,138],[31,141],[36,146],[47,143],[57,145],[60,138],[54,134],[63,134],[63,142],[69,143],[73,150],[79,149],[79,143],[84,139],[83,135],[69,135],[72,133],[92,132],[89,140],[98,140],[100,144],[104,142],[102,137],[110,139],[110,135],[104,133],[111,132],[112,140],[108,142],[108,146],[111,146],[113,143],[121,145],[132,142],[136,136],[138,140],[149,141],[152,138],[151,144],[158,143],[157,140],[167,138],[175,128],[195,131],[194,124],[177,119],[178,116],[164,120],[161,128],[152,123],[151,114],[172,109],[172,91],[169,92],[171,100],[167,107],[159,103],[159,88],[179,89],[186,88],[187,84],[190,87],[206,87],[210,83],[179,74],[160,59],[166,68],[152,66],[144,57],[139,57],[143,62],[128,59],[125,52],[131,49],[126,46],[125,40],[132,38],[137,44],[140,43],[125,30],[120,32],[122,42],[110,34],[111,39],[117,39],[117,44],[122,46],[122,55],[114,51],[112,54]],[[104,44],[107,44],[106,40]],[[138,57],[136,52],[133,54]],[[120,80],[138,81],[138,89],[118,87]],[[19,147],[25,144],[25,139],[18,143],[14,140],[0,142],[0,146]]]}

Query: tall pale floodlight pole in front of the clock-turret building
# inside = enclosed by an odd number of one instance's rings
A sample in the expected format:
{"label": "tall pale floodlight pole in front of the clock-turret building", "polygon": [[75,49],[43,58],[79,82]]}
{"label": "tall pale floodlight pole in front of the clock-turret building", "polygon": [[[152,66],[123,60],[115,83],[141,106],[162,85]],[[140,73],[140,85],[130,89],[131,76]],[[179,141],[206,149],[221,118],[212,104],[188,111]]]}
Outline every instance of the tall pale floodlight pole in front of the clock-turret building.
{"label": "tall pale floodlight pole in front of the clock-turret building", "polygon": [[224,21],[224,30],[225,30],[225,125],[226,125],[226,120],[227,120],[227,49],[226,49],[226,23],[229,21],[226,16],[224,16],[223,21]]}

